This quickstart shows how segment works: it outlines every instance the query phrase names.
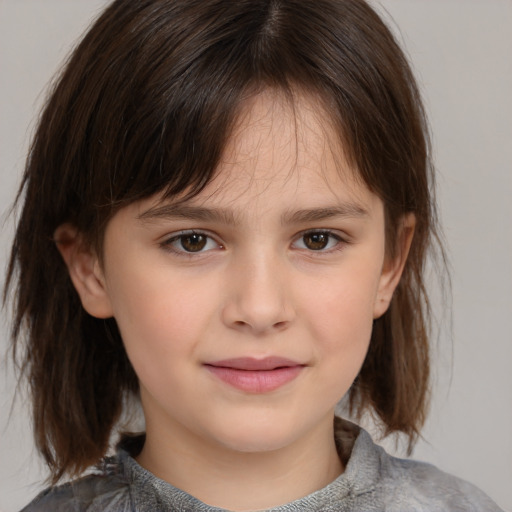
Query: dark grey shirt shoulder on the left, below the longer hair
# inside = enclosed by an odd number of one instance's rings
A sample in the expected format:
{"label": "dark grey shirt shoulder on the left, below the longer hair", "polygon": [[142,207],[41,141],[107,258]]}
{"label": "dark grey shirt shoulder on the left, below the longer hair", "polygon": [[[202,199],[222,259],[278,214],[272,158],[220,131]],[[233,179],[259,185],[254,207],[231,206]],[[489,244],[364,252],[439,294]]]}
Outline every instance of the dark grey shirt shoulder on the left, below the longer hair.
{"label": "dark grey shirt shoulder on the left, below the longer hair", "polygon": [[128,512],[130,486],[119,462],[107,461],[101,471],[49,487],[21,512]]}

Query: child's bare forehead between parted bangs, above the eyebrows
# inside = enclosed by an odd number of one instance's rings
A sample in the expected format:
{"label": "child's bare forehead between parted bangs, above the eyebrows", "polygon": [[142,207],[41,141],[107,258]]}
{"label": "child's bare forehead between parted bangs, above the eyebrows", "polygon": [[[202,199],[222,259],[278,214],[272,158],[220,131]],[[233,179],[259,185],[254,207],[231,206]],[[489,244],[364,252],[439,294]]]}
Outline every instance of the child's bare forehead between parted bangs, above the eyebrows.
{"label": "child's bare forehead between parted bangs, above the eyebrows", "polygon": [[195,201],[257,201],[269,190],[297,199],[369,191],[319,100],[266,90],[245,102],[215,175]]}

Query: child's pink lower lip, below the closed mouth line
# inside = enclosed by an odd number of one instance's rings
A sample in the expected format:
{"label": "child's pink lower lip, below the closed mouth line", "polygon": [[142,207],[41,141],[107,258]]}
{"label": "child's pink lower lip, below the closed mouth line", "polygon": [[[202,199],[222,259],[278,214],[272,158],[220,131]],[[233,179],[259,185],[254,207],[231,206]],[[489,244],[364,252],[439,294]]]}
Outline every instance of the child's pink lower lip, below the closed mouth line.
{"label": "child's pink lower lip, below the closed mouth line", "polygon": [[274,370],[240,370],[223,366],[206,368],[226,384],[248,393],[268,393],[294,380],[303,366],[286,366]]}

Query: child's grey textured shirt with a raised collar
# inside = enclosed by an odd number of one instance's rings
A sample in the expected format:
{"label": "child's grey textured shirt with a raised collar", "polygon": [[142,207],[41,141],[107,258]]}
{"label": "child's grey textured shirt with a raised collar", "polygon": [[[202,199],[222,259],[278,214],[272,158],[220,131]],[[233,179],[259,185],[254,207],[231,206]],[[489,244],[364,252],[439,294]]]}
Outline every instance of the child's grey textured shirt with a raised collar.
{"label": "child's grey textured shirt with a raised collar", "polygon": [[[422,462],[399,459],[363,429],[336,423],[345,472],[329,485],[267,512],[499,512],[473,485]],[[95,474],[43,491],[22,512],[221,512],[142,468],[118,449]],[[502,511],[503,512],[503,511]]]}

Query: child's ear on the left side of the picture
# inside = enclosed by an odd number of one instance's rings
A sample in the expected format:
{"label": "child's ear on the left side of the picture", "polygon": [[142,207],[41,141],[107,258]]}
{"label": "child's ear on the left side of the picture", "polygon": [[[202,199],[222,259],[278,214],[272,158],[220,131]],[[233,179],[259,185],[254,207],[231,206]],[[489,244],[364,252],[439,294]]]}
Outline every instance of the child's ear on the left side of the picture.
{"label": "child's ear on the left side of the picture", "polygon": [[92,248],[71,224],[59,226],[53,237],[84,309],[96,318],[113,316],[105,278]]}

